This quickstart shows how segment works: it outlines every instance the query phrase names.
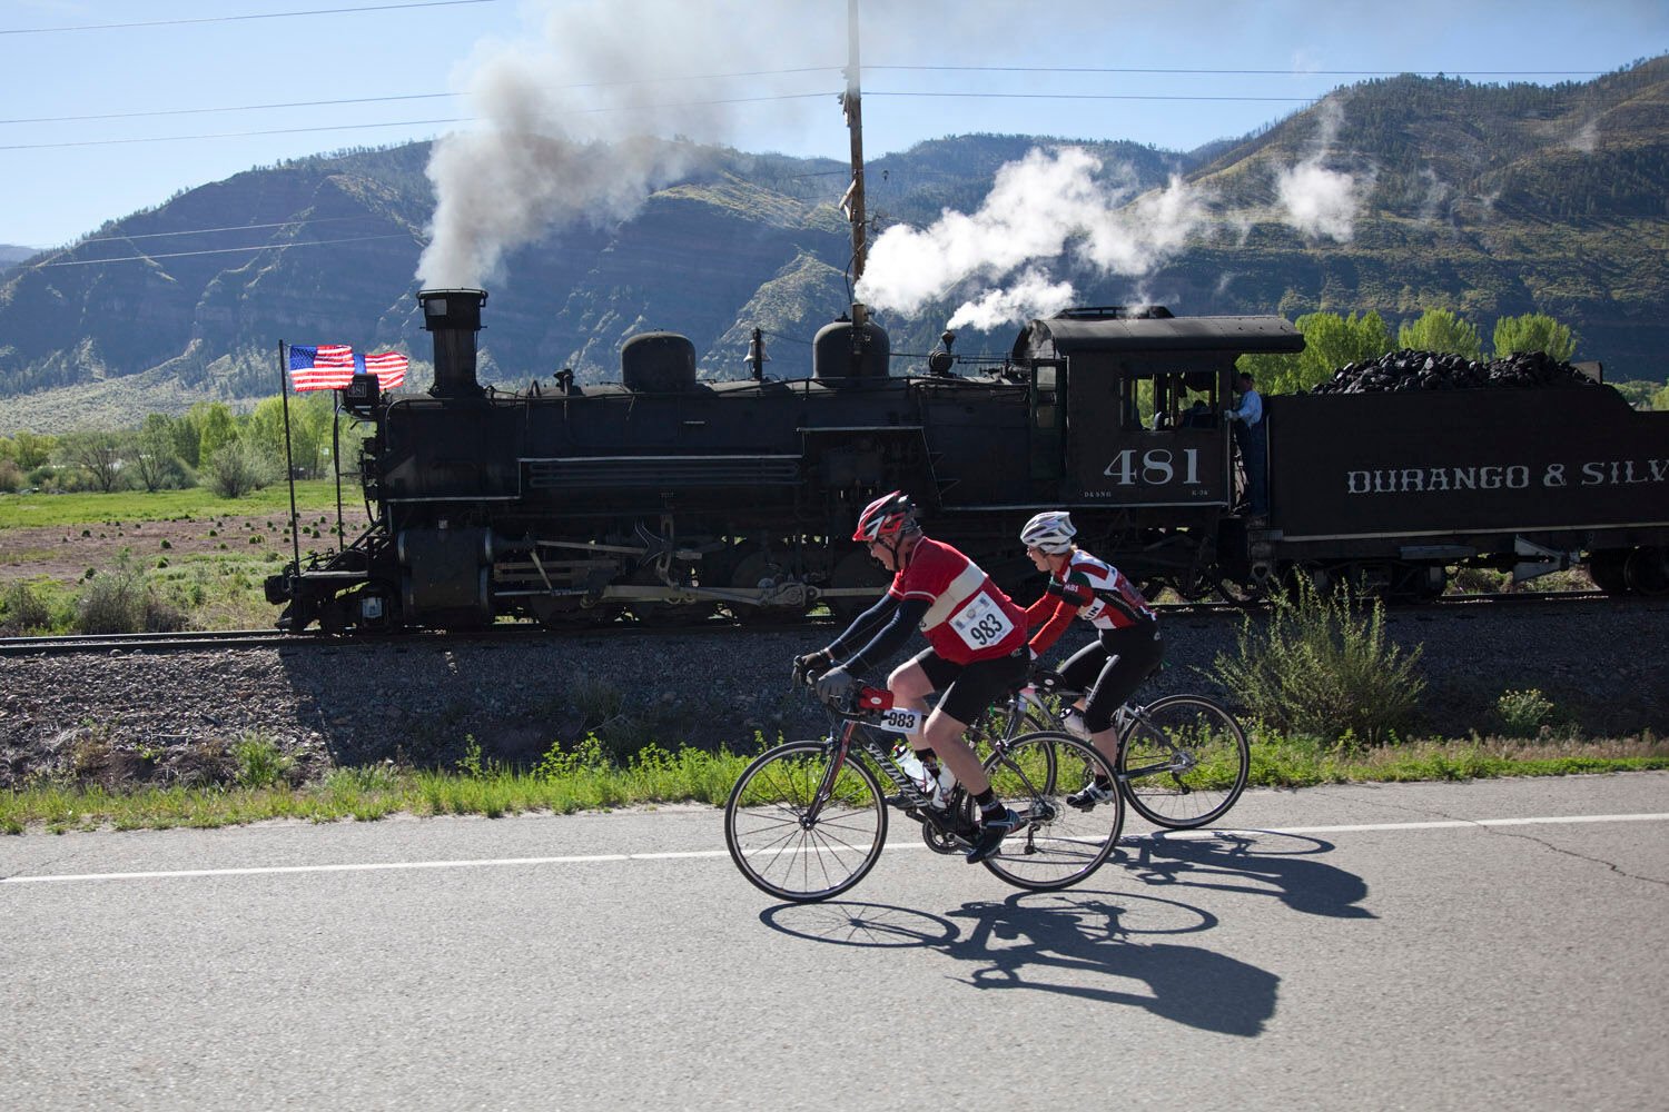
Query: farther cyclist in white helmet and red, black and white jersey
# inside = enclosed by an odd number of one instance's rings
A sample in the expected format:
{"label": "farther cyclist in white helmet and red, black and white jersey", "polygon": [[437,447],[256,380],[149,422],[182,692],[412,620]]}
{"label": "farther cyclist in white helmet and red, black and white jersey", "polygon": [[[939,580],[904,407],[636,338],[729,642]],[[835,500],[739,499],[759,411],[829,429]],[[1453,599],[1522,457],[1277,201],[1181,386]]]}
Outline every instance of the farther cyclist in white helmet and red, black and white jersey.
{"label": "farther cyclist in white helmet and red, black and white jersey", "polygon": [[[1065,510],[1038,513],[1020,530],[1026,555],[1048,574],[1041,599],[1026,607],[1033,655],[1048,652],[1066,632],[1073,617],[1095,627],[1095,640],[1061,665],[1060,674],[1073,690],[1087,692],[1066,714],[1066,729],[1083,734],[1118,767],[1118,729],[1113,714],[1125,705],[1165,655],[1158,615],[1135,584],[1117,567],[1097,560],[1073,543],[1078,530]],[[1105,804],[1118,789],[1112,780],[1095,780],[1066,797],[1080,810]]]}

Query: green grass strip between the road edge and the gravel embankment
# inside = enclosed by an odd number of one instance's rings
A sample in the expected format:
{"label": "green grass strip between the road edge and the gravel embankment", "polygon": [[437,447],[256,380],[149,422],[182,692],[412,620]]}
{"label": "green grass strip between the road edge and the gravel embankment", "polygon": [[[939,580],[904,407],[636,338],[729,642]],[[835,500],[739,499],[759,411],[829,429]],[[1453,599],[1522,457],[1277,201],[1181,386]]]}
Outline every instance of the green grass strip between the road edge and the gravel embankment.
{"label": "green grass strip between the road edge and the gravel embankment", "polygon": [[[763,747],[756,739],[754,749]],[[574,814],[666,804],[721,807],[753,754],[648,747],[624,765],[603,757],[594,739],[552,750],[531,770],[482,762],[479,749],[456,772],[391,764],[332,769],[287,785],[270,742],[245,739],[242,772],[227,787],[35,784],[0,792],[0,834],[25,830],[225,827],[269,819],[374,822],[396,814]],[[1344,750],[1314,739],[1260,734],[1252,745],[1252,787],[1477,780],[1494,777],[1611,774],[1669,769],[1669,742],[1651,734],[1624,740],[1484,739],[1425,740]]]}

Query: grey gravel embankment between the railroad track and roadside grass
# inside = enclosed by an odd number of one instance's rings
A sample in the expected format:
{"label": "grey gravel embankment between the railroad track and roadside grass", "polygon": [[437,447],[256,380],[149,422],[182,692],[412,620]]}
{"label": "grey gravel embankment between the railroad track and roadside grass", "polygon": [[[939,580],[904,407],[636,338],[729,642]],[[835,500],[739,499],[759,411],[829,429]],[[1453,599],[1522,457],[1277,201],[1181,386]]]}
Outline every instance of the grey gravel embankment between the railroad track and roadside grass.
{"label": "grey gravel embankment between the railroad track and roadside grass", "polygon": [[[1238,615],[1165,619],[1170,667],[1143,694],[1222,695],[1202,669],[1233,650],[1238,629]],[[0,787],[63,774],[224,782],[235,775],[234,749],[254,735],[294,757],[295,777],[384,760],[452,767],[471,740],[482,757],[526,764],[587,729],[616,755],[646,740],[751,749],[756,732],[774,740],[821,729],[821,712],[789,692],[788,670],[834,632],[12,657],[0,660]],[[1557,722],[1591,737],[1669,727],[1669,602],[1392,610],[1387,632],[1424,645],[1424,734],[1489,732],[1499,695],[1532,687]],[[1061,655],[1087,635],[1073,630]]]}

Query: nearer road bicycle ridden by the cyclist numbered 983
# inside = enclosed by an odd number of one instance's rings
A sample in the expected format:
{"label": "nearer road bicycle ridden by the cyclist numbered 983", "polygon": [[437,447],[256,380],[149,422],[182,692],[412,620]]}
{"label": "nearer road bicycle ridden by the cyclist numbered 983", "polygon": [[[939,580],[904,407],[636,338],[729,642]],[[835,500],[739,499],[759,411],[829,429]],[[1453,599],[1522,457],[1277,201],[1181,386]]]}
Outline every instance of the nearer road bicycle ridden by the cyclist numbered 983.
{"label": "nearer road bicycle ridden by the cyclist numbered 983", "polygon": [[[759,754],[724,804],[724,844],[754,887],[794,902],[826,900],[853,887],[881,857],[890,805],[921,824],[921,839],[936,854],[965,854],[973,845],[980,832],[973,797],[956,785],[935,807],[900,765],[908,744],[891,739],[920,730],[926,714],[895,707],[891,692],[878,687],[824,707],[824,737]],[[986,739],[983,765],[998,799],[1021,819],[980,862],[1008,884],[1065,889],[1100,869],[1117,847],[1122,802],[1085,814],[1063,797],[1097,772],[1112,775],[1093,747],[1058,729],[1005,734]]]}

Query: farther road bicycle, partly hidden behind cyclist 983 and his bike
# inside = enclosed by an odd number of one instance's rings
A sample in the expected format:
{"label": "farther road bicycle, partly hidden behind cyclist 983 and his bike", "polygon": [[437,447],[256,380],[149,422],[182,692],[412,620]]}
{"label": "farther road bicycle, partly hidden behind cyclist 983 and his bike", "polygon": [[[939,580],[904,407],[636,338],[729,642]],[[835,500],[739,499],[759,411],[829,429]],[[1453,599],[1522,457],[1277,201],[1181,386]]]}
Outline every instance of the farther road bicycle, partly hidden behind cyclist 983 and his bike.
{"label": "farther road bicycle, partly hidden behind cyclist 983 and his bike", "polygon": [[[1061,717],[1082,694],[1066,687],[1058,672],[1033,669],[1031,684],[993,705],[970,729],[970,740],[978,750],[998,737],[1063,730]],[[1245,790],[1252,772],[1247,735],[1215,699],[1165,695],[1145,705],[1127,702],[1113,724],[1118,794],[1153,825],[1190,830],[1217,822]],[[1065,787],[1075,792],[1083,784]]]}

